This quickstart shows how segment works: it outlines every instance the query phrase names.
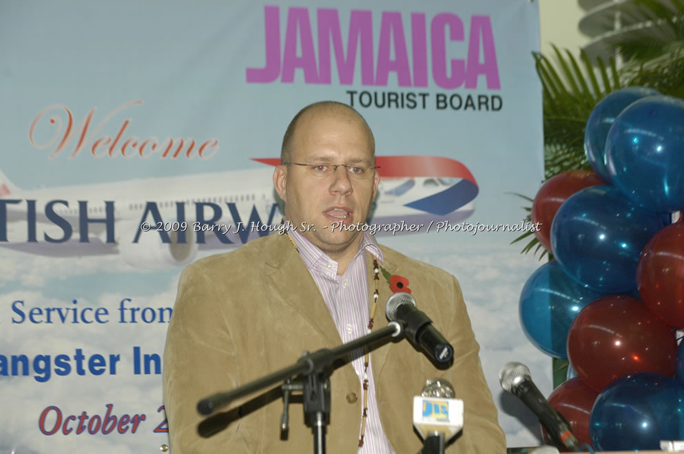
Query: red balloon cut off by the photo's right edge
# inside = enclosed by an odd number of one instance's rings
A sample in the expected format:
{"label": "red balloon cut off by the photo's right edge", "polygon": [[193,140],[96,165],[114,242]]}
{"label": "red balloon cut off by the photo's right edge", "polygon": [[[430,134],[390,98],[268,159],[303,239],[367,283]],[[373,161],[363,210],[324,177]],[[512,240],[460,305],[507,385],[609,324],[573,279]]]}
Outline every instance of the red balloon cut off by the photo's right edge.
{"label": "red balloon cut off by the photo's right edge", "polygon": [[684,328],[684,223],[653,235],[641,251],[636,285],[648,310],[673,328]]}

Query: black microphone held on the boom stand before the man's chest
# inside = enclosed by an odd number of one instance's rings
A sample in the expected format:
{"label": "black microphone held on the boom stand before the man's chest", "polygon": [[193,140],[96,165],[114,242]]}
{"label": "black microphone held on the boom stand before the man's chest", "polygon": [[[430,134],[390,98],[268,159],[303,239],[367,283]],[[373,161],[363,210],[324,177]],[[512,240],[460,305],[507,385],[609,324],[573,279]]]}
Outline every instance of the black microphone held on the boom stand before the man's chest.
{"label": "black microphone held on the boom stand before the man's chest", "polygon": [[448,363],[454,357],[454,348],[432,325],[424,312],[415,306],[413,296],[397,292],[387,299],[385,315],[389,321],[404,325],[406,338],[411,345],[437,363]]}

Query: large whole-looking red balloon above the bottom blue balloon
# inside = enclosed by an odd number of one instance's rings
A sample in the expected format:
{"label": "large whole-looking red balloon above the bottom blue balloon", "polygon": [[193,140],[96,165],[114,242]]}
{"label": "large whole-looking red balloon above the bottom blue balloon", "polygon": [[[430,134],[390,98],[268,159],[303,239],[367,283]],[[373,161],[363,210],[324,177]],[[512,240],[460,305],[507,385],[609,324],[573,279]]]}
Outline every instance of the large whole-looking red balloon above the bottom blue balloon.
{"label": "large whole-looking red balloon above the bottom blue balloon", "polygon": [[636,372],[674,376],[674,332],[630,296],[603,296],[577,314],[568,332],[568,360],[594,391]]}

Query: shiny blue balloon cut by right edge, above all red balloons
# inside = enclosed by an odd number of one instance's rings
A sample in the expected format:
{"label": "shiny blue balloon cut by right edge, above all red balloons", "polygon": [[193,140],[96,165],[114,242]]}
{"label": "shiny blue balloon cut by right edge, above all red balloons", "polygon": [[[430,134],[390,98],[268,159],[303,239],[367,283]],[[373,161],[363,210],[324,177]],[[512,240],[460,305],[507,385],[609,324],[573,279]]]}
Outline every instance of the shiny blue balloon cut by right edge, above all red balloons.
{"label": "shiny blue balloon cut by right edge, above all red balloons", "polygon": [[650,96],[615,119],[605,142],[612,183],[656,213],[684,207],[684,100]]}

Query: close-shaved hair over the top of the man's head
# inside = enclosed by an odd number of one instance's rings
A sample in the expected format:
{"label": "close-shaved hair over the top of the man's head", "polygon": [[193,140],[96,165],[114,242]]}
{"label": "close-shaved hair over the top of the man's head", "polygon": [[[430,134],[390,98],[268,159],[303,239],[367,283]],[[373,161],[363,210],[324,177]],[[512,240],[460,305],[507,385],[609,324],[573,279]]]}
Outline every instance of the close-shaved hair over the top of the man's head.
{"label": "close-shaved hair over the top of the man's head", "polygon": [[287,126],[285,135],[282,138],[282,147],[280,147],[280,164],[291,162],[299,125],[305,123],[304,120],[315,120],[316,118],[334,118],[343,122],[358,122],[365,129],[369,138],[369,144],[371,144],[371,153],[373,156],[375,155],[373,131],[371,131],[371,128],[361,114],[342,102],[320,101],[309,104],[300,110]]}

